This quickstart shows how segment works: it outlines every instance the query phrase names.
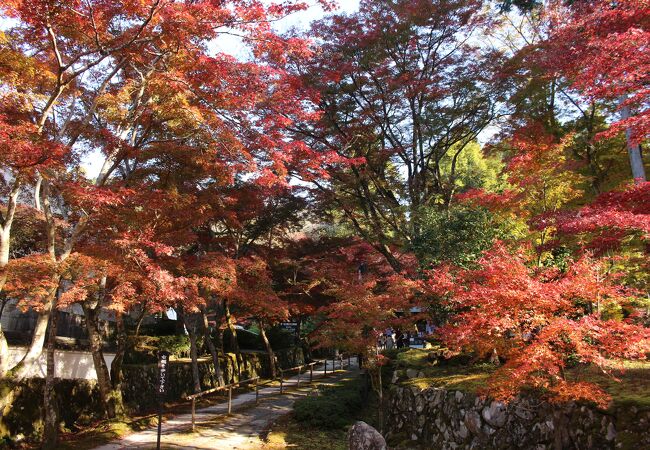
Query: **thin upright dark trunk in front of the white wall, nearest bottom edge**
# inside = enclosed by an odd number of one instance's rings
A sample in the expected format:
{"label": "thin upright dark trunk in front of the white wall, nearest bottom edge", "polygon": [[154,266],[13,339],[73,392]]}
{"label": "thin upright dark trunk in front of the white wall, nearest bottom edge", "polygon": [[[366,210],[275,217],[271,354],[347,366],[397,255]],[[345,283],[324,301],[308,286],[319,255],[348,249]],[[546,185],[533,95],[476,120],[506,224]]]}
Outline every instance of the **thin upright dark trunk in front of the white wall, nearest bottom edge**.
{"label": "thin upright dark trunk in front of the white wall, nearest bottom edge", "polygon": [[43,409],[45,420],[43,424],[44,450],[56,449],[59,437],[59,408],[54,391],[54,352],[56,350],[56,328],[59,321],[58,314],[54,311],[50,318],[50,332],[47,339],[47,373],[45,376],[45,390],[43,393]]}

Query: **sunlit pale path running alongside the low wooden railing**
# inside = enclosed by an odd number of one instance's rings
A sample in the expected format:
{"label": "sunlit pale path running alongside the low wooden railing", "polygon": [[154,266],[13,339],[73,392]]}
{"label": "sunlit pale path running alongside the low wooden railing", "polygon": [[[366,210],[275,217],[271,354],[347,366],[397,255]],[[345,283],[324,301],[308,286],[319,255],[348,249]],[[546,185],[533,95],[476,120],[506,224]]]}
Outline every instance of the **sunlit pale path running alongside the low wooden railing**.
{"label": "sunlit pale path running alongside the low wooden railing", "polygon": [[[337,368],[338,368],[337,363]],[[346,365],[347,369],[347,365]],[[352,373],[358,372],[356,361],[352,361]],[[259,403],[255,405],[255,392],[240,394],[232,399],[233,413],[228,416],[227,403],[219,403],[196,410],[196,431],[191,430],[191,414],[179,414],[163,422],[161,448],[163,449],[218,449],[254,450],[263,448],[260,435],[278,417],[291,412],[293,403],[300,397],[309,395],[321,384],[332,382],[351,372],[332,372],[332,361],[327,364],[327,378],[323,378],[323,366],[314,369],[314,380],[309,384],[309,372],[284,381],[284,394],[279,387],[259,390]],[[147,429],[133,433],[118,441],[96,447],[94,450],[155,449],[157,429]]]}

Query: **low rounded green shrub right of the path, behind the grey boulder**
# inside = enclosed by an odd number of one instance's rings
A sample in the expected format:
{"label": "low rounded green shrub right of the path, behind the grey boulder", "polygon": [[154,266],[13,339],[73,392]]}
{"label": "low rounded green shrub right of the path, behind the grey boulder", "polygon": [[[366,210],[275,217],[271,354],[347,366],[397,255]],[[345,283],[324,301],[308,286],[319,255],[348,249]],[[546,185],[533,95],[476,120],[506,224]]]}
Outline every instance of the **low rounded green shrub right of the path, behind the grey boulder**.
{"label": "low rounded green shrub right of the path, behind the grey boulder", "polygon": [[294,417],[310,428],[340,429],[354,422],[355,414],[362,406],[360,381],[355,380],[338,386],[322,387],[317,397],[297,400]]}

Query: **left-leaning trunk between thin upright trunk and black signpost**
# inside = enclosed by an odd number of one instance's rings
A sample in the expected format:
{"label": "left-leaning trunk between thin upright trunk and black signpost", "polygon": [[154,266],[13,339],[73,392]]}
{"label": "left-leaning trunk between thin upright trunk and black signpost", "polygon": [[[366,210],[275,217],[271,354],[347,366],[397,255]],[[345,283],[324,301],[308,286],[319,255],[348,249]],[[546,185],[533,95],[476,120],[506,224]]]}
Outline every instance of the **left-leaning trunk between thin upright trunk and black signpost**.
{"label": "left-leaning trunk between thin upright trunk and black signpost", "polygon": [[122,405],[122,396],[113,391],[113,385],[104,359],[101,332],[99,331],[99,302],[92,307],[87,302],[82,303],[84,316],[86,317],[86,330],[88,330],[88,340],[90,341],[90,352],[93,357],[95,372],[97,373],[97,387],[99,388],[99,398],[102,402],[106,417],[113,419],[124,414]]}

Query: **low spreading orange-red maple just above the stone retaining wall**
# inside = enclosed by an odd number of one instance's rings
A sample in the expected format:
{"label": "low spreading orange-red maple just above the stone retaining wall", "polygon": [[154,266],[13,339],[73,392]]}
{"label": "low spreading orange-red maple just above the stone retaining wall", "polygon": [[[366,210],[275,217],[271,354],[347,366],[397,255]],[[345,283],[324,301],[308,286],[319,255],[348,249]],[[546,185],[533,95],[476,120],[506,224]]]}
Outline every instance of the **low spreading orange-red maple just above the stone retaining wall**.
{"label": "low spreading orange-red maple just above the stone retaining wall", "polygon": [[505,359],[487,391],[511,399],[523,386],[543,388],[557,401],[571,398],[606,405],[598,386],[567,381],[571,364],[596,364],[605,371],[622,359],[645,358],[647,328],[608,317],[624,301],[625,289],[589,257],[565,273],[532,270],[524,253],[497,244],[476,269],[442,267],[429,288],[459,311],[440,331],[452,349]]}

